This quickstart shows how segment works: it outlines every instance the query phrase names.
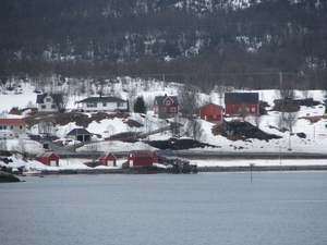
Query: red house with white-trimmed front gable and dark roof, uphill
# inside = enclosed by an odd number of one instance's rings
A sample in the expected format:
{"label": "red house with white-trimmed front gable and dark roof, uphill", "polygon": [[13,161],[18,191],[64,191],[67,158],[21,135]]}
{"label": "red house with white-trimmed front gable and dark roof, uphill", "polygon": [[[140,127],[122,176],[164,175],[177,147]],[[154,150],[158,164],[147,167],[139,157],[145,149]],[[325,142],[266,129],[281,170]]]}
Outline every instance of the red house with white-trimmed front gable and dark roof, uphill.
{"label": "red house with white-trimmed front gable and dark roof, uphill", "polygon": [[156,96],[154,111],[159,119],[172,118],[179,113],[179,101],[175,96]]}

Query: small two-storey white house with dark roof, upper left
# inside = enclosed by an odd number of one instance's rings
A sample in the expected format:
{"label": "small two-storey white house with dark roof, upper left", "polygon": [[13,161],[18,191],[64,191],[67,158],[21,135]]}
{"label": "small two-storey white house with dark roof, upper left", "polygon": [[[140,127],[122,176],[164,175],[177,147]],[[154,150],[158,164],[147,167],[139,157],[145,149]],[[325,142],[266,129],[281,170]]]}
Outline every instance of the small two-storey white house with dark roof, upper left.
{"label": "small two-storey white house with dark roof, upper left", "polygon": [[62,107],[63,97],[61,94],[37,95],[36,103],[38,112],[58,112]]}

